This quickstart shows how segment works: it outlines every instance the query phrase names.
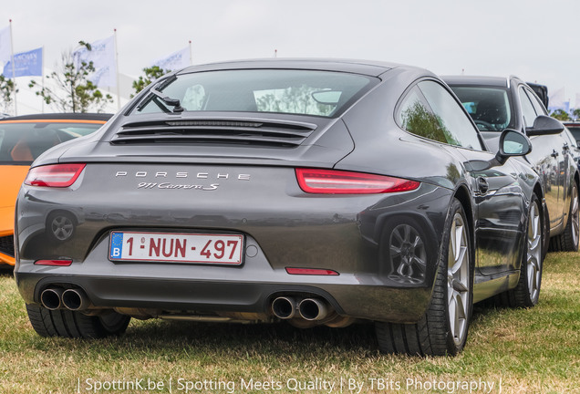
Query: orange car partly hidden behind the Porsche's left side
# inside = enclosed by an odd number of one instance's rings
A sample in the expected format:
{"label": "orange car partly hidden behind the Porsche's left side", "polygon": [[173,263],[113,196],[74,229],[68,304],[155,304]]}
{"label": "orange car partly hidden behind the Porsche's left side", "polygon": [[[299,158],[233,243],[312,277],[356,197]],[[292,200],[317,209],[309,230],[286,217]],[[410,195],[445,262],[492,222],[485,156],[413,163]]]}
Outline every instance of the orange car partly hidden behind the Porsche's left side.
{"label": "orange car partly hidden behind the Porsche's left side", "polygon": [[112,114],[39,114],[0,119],[0,264],[15,264],[16,195],[26,172],[53,146],[98,130]]}

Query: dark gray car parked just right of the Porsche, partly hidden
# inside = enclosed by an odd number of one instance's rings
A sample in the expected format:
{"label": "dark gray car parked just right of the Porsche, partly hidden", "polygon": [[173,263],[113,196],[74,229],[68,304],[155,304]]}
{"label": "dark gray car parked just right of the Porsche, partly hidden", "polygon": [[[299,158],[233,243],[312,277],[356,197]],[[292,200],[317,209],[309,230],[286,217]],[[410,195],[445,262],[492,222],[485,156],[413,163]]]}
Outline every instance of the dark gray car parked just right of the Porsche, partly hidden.
{"label": "dark gray car parked just right of the Porsche, partly hidden", "polygon": [[[578,167],[564,126],[549,118],[544,104],[520,78],[445,77],[491,147],[502,130],[518,130],[532,140],[525,159],[545,191],[550,248],[578,250]],[[547,241],[547,240],[546,240]]]}

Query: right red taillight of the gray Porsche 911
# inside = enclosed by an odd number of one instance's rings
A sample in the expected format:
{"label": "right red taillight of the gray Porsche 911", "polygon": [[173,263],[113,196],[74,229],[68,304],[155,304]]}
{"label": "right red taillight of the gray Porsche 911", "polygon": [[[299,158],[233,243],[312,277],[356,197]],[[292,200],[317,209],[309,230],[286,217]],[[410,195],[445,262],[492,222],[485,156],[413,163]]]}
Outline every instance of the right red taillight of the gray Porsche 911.
{"label": "right red taillight of the gray Porsche 911", "polygon": [[409,192],[419,187],[418,181],[409,181],[364,172],[296,169],[300,188],[309,193],[372,194]]}

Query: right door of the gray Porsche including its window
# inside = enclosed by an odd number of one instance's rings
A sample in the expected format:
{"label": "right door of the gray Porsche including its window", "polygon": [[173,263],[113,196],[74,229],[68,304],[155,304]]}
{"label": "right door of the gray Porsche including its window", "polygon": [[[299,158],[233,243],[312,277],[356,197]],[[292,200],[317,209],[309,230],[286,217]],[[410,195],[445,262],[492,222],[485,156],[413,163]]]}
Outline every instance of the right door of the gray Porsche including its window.
{"label": "right door of the gray Porsche including its window", "polygon": [[452,136],[445,149],[461,157],[469,172],[475,220],[476,283],[519,266],[526,205],[516,171],[510,161],[495,161],[485,150],[469,115],[451,93],[434,81],[418,84],[445,134]]}

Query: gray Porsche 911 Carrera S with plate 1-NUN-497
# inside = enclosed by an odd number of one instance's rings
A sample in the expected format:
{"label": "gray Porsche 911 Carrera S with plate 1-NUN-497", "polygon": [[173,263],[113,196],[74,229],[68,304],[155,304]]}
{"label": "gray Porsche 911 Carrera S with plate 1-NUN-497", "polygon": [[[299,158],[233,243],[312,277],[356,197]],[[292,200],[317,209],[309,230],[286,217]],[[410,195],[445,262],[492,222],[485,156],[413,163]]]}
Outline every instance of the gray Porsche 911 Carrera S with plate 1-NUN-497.
{"label": "gray Porsche 911 Carrera S with plate 1-NUN-497", "polygon": [[473,303],[540,293],[544,192],[509,160],[531,145],[504,130],[499,146],[417,67],[189,67],[35,161],[16,282],[41,336],[131,316],[375,322],[381,351],[454,355]]}

